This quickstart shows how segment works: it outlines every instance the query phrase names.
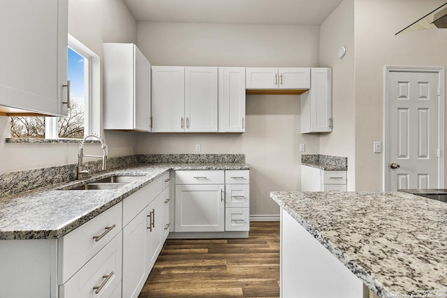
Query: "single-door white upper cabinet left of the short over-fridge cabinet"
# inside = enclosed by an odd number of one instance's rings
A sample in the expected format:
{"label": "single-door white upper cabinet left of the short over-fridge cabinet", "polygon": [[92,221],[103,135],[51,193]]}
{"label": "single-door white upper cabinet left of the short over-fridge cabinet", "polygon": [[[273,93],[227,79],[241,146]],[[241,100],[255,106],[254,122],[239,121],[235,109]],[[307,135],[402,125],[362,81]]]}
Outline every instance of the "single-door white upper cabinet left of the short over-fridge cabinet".
{"label": "single-door white upper cabinet left of the short over-fridge cabinet", "polygon": [[219,67],[219,133],[245,132],[245,68]]}

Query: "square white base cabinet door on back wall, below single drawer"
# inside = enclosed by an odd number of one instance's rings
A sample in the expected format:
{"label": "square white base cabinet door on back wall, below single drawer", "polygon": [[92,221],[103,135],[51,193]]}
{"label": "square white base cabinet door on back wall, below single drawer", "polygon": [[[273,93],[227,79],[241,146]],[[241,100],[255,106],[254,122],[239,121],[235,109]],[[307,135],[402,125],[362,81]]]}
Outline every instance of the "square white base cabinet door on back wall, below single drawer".
{"label": "square white base cabinet door on back wall, below single drawer", "polygon": [[175,186],[175,232],[222,232],[223,185]]}

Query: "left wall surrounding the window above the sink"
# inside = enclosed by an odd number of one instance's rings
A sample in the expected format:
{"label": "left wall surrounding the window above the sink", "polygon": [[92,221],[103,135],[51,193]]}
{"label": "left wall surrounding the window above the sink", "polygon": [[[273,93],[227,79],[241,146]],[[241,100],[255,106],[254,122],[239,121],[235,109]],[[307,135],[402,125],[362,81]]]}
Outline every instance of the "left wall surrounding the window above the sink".
{"label": "left wall surrounding the window above the sink", "polygon": [[[136,42],[137,25],[122,0],[68,2],[68,33],[100,57],[103,42]],[[102,80],[100,90],[102,103]],[[8,128],[9,118],[0,117],[0,172],[76,163],[78,160],[78,144],[6,144]],[[132,133],[106,132],[105,140],[109,144],[111,157],[136,153],[135,135]],[[97,145],[87,147],[92,147],[87,149],[89,154],[102,152]]]}

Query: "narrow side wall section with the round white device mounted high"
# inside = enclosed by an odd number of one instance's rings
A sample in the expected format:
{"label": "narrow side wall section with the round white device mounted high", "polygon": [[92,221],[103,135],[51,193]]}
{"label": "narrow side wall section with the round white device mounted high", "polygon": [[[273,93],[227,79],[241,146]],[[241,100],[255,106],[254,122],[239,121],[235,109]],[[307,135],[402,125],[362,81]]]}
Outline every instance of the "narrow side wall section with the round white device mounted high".
{"label": "narrow side wall section with the round white device mounted high", "polygon": [[[346,55],[337,57],[339,47]],[[348,158],[348,191],[356,187],[354,0],[344,0],[320,27],[320,66],[332,67],[332,133],[321,134],[320,154]]]}

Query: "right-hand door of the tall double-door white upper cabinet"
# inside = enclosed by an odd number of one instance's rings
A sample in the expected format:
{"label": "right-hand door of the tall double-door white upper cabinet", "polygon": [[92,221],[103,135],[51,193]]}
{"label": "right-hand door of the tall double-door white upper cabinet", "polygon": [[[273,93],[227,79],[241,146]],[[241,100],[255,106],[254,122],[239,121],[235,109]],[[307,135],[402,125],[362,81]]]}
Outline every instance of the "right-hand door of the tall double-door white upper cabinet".
{"label": "right-hand door of the tall double-door white upper cabinet", "polygon": [[217,132],[217,67],[186,67],[184,75],[185,131]]}

